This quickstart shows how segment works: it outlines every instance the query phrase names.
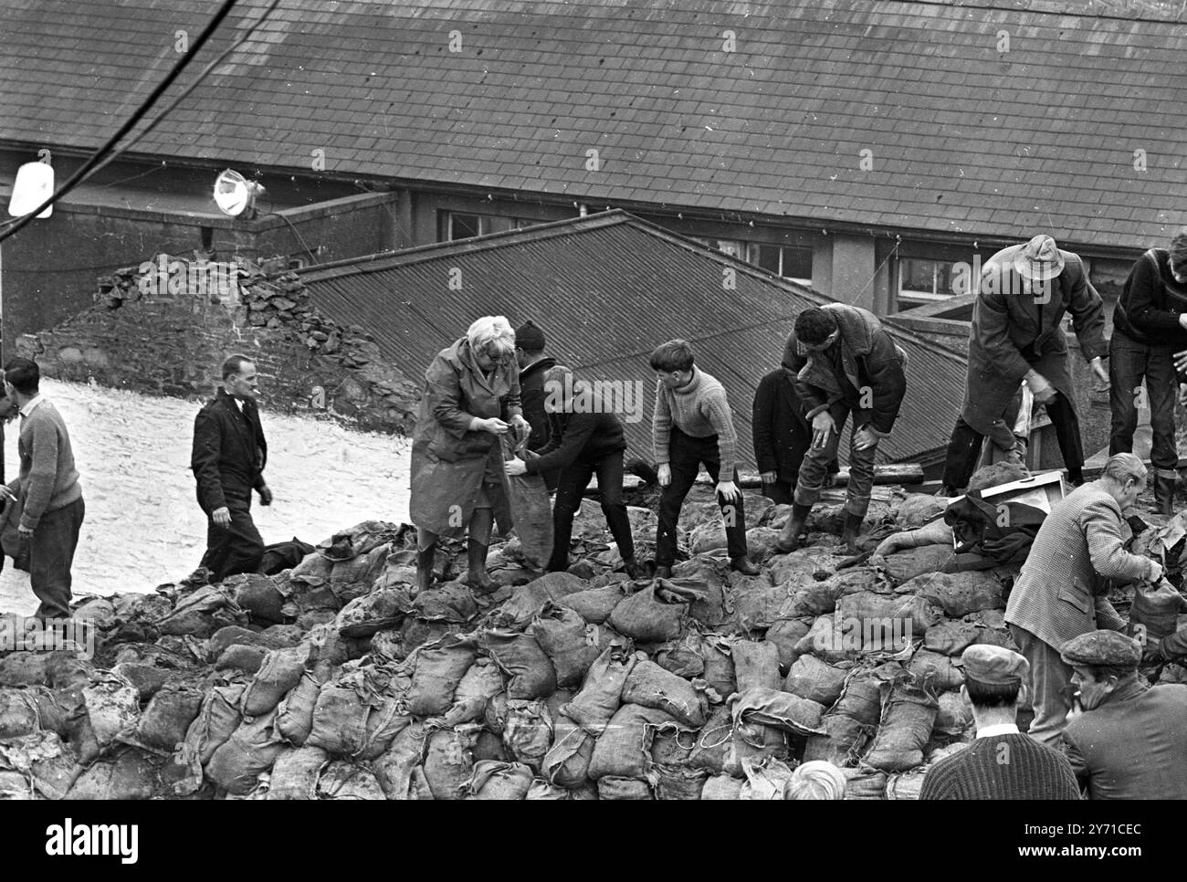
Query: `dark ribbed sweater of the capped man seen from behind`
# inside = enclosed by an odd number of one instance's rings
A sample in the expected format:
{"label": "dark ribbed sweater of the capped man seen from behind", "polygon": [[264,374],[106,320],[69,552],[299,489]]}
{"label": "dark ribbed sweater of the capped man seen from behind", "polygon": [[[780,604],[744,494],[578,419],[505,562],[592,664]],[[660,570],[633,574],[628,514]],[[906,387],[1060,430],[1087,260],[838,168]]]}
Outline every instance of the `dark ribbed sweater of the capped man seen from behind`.
{"label": "dark ribbed sweater of the capped man seen from behind", "polygon": [[920,799],[1079,799],[1072,764],[1029,735],[977,738],[927,770]]}

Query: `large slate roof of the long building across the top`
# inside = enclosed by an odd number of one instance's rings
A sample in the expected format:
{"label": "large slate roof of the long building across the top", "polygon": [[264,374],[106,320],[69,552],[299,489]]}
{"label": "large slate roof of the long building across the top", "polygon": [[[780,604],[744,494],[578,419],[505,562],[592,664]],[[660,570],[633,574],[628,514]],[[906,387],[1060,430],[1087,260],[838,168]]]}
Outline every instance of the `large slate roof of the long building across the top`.
{"label": "large slate roof of the long building across the top", "polygon": [[[267,2],[242,0],[183,84]],[[216,6],[6,4],[0,139],[97,146]],[[1187,27],[1119,0],[1067,8],[283,0],[137,150],[248,172],[309,172],[324,151],[329,173],[598,208],[1145,248],[1187,220]]]}

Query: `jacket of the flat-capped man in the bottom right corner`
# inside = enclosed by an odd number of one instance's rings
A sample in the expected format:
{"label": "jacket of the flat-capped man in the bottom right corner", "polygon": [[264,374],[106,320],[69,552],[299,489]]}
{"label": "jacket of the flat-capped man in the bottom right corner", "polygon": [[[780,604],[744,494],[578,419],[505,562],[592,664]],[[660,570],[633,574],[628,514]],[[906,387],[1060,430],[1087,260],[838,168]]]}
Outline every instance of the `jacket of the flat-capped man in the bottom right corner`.
{"label": "jacket of the flat-capped man in the bottom right corner", "polygon": [[1088,799],[1187,799],[1187,686],[1138,678],[1069,721],[1064,744]]}

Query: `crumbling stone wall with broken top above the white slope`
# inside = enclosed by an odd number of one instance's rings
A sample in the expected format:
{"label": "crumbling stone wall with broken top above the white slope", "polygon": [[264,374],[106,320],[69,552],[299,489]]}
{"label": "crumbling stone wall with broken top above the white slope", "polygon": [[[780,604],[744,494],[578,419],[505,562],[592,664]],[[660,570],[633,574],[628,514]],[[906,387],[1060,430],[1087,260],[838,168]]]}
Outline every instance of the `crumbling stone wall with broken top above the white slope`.
{"label": "crumbling stone wall with broken top above the white slope", "polygon": [[101,278],[94,306],[21,335],[18,353],[47,376],[182,398],[212,395],[223,358],[241,353],[256,363],[265,408],[411,434],[419,383],[386,363],[364,329],[312,309],[296,274],[201,255],[151,262]]}

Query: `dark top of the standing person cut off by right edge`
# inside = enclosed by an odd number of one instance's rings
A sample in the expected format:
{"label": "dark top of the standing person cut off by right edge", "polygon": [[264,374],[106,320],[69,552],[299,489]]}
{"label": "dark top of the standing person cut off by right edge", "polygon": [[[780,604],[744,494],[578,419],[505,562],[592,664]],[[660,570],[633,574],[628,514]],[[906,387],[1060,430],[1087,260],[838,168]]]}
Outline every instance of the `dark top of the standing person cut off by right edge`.
{"label": "dark top of the standing person cut off by right edge", "polygon": [[1113,332],[1138,343],[1168,343],[1187,349],[1187,330],[1179,316],[1187,312],[1187,285],[1170,274],[1170,253],[1150,248],[1129,271],[1117,307]]}

